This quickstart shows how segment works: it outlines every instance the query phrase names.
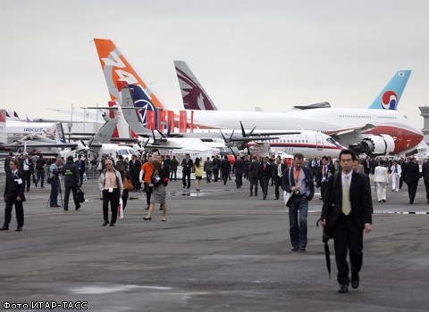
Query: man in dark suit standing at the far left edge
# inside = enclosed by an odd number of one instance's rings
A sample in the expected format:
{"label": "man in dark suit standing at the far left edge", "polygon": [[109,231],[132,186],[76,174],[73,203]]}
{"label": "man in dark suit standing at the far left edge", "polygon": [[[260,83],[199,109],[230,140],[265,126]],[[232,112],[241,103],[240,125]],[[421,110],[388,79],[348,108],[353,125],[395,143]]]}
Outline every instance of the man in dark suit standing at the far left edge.
{"label": "man in dark suit standing at the far left edge", "polygon": [[24,190],[25,181],[22,178],[20,168],[20,161],[17,159],[9,160],[11,170],[6,175],[6,184],[4,185],[4,201],[6,207],[4,209],[4,224],[0,231],[9,230],[9,223],[12,219],[12,208],[15,205],[16,221],[18,223],[15,231],[22,231],[24,226],[24,209],[22,201],[25,201]]}

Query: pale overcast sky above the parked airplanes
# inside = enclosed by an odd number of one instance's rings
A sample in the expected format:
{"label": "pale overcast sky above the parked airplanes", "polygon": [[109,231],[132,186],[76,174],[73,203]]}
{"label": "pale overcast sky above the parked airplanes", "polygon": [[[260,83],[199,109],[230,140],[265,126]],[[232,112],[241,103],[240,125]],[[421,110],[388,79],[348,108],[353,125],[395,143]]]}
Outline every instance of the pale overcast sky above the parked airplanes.
{"label": "pale overcast sky above the parked airplanes", "polygon": [[399,110],[423,127],[427,12],[426,0],[0,0],[0,108],[69,119],[49,109],[107,104],[93,42],[107,38],[175,109],[173,60],[224,111],[367,108],[397,70],[413,70]]}

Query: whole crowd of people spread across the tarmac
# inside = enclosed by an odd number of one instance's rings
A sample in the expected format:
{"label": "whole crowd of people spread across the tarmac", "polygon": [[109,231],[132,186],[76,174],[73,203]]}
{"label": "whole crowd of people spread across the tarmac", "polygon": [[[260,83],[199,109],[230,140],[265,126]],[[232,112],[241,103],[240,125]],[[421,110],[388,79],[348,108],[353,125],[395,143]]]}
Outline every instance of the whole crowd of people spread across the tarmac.
{"label": "whole crowd of people spread across the tarmac", "polygon": [[[44,188],[45,182],[51,185],[49,203],[58,205],[58,192],[61,192],[63,179],[64,210],[69,208],[70,193],[73,193],[75,209],[80,209],[76,193],[83,184],[86,161],[78,155],[78,160],[69,156],[66,160],[46,160],[43,155],[36,159],[22,153],[13,157],[10,153],[4,161],[6,180],[4,186],[4,225],[1,231],[9,230],[12,209],[15,207],[17,228],[24,226],[23,202],[29,192],[31,182],[35,187]],[[232,162],[232,163],[231,163]],[[177,181],[179,161],[175,156],[132,155],[131,160],[102,155],[92,163],[97,166],[98,186],[103,195],[102,226],[114,226],[118,218],[118,209],[125,209],[130,192],[143,192],[147,197],[147,216],[152,220],[156,204],[162,210],[162,221],[166,222],[166,186],[169,181]],[[424,178],[426,199],[429,204],[429,162],[420,168],[413,156],[403,158],[366,158],[359,159],[353,151],[343,150],[337,160],[329,157],[305,159],[302,154],[295,154],[293,160],[278,157],[239,157],[231,161],[227,156],[214,155],[203,160],[195,160],[186,154],[181,160],[183,188],[190,188],[191,175],[195,177],[196,191],[201,191],[201,184],[206,174],[206,187],[212,182],[222,181],[226,185],[235,176],[235,186],[241,188],[243,180],[249,181],[249,196],[257,196],[258,189],[262,199],[269,196],[269,186],[273,187],[273,199],[279,200],[282,190],[285,205],[289,208],[290,244],[292,251],[306,251],[307,248],[307,212],[308,201],[320,188],[320,200],[323,209],[319,223],[329,228],[334,240],[335,259],[338,268],[339,292],[349,291],[359,285],[359,271],[363,260],[363,233],[372,230],[371,183],[369,175],[374,175],[374,188],[379,202],[387,201],[387,185],[391,191],[399,192],[403,182],[408,185],[409,203],[413,204],[416,189],[421,177]],[[46,170],[48,171],[45,181]],[[36,177],[35,177],[36,176]],[[33,177],[31,181],[31,177]],[[391,180],[391,182],[390,182]],[[109,217],[110,206],[110,217]],[[347,255],[351,267],[347,262]],[[349,276],[349,272],[351,275]]]}

